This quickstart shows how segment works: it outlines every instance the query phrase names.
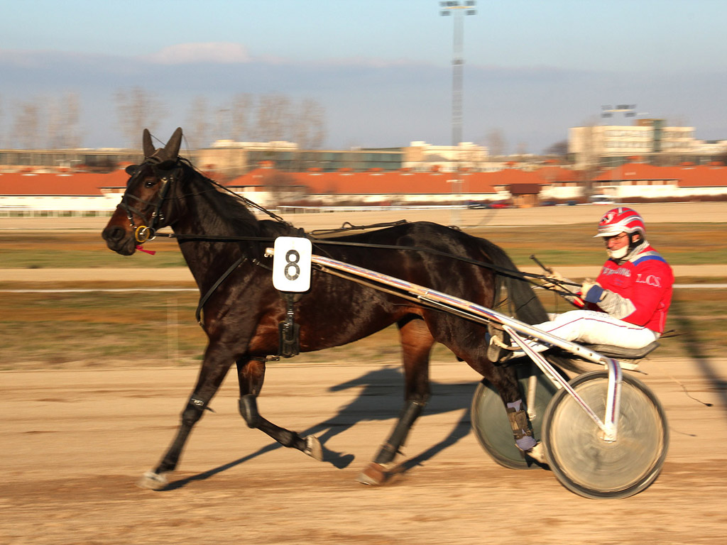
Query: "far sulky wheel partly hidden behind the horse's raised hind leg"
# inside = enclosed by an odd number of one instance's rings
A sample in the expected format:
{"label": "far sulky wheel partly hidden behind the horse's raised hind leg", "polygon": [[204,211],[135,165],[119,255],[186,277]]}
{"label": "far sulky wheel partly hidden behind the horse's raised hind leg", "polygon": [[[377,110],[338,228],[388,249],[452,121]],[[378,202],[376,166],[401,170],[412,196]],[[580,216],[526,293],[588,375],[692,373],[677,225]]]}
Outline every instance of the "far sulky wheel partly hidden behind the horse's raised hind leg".
{"label": "far sulky wheel partly hidden behind the horse's raised hind leg", "polygon": [[[531,418],[533,435],[540,440],[540,427],[545,414],[545,408],[557,388],[542,374],[537,366],[523,365],[518,368],[518,382],[523,392],[523,399],[526,399],[528,392],[529,377],[534,374],[535,387],[535,416]],[[484,380],[478,385],[475,395],[472,398],[470,408],[470,419],[475,437],[482,445],[482,448],[498,464],[510,469],[538,469],[539,466],[533,462],[526,461],[523,453],[515,446],[513,432],[510,429],[510,421],[507,419],[505,405],[499,396],[497,389]]]}

